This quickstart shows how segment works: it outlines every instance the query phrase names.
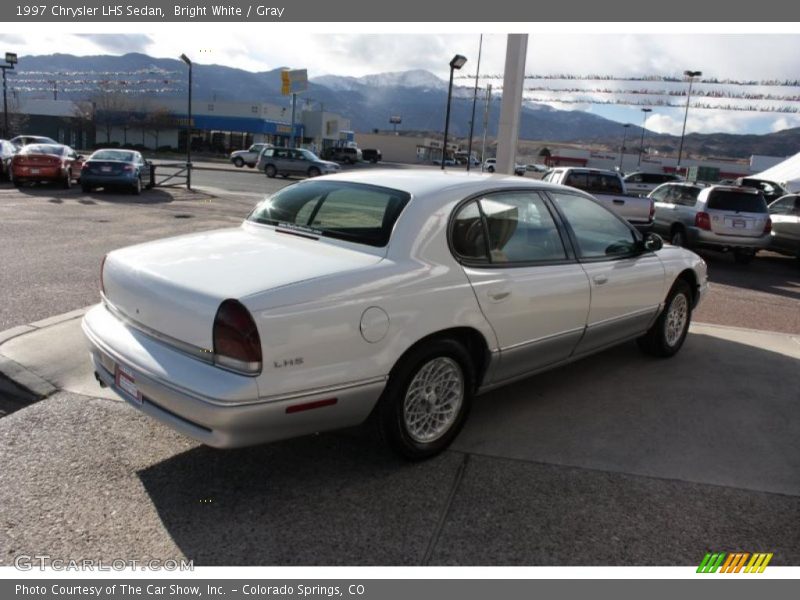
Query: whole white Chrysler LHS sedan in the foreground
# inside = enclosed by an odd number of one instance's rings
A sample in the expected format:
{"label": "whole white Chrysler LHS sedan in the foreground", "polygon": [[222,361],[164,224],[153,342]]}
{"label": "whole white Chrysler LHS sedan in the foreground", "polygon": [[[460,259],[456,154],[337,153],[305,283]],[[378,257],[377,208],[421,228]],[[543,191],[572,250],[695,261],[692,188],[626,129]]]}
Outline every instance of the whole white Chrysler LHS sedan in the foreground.
{"label": "whole white Chrysler LHS sedan in the foreground", "polygon": [[240,227],[116,250],[84,318],[98,379],[201,442],[361,423],[440,452],[473,396],[626,340],[671,356],[705,263],[590,196],[518,177],[365,171]]}

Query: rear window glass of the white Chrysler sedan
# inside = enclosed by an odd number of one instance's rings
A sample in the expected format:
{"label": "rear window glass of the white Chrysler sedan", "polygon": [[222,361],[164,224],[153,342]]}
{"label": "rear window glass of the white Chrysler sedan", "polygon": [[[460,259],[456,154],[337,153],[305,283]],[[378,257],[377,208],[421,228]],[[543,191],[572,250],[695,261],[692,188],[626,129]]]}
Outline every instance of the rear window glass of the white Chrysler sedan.
{"label": "rear window glass of the white Chrysler sedan", "polygon": [[282,189],[247,220],[383,247],[410,198],[406,192],[374,185],[314,181]]}

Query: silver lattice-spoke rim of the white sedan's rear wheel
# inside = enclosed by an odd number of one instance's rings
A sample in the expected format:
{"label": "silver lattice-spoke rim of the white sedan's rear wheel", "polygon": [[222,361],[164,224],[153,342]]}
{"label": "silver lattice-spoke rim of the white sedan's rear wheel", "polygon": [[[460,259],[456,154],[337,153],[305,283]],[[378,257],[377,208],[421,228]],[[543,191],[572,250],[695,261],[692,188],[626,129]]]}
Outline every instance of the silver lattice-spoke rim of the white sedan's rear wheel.
{"label": "silver lattice-spoke rim of the white sedan's rear wheel", "polygon": [[452,358],[439,356],[422,365],[403,399],[403,425],[417,443],[435,442],[456,422],[464,403],[464,373]]}

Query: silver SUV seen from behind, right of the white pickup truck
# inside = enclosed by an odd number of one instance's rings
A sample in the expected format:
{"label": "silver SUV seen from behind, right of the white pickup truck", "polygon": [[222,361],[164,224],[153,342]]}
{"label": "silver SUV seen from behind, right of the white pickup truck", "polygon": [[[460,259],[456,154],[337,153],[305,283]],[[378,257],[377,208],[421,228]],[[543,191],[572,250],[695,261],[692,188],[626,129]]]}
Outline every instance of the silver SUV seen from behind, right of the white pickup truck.
{"label": "silver SUV seen from behind, right of the white pickup truck", "polygon": [[656,209],[653,229],[675,246],[732,251],[742,264],[769,246],[772,221],[756,189],[665,183],[649,197]]}

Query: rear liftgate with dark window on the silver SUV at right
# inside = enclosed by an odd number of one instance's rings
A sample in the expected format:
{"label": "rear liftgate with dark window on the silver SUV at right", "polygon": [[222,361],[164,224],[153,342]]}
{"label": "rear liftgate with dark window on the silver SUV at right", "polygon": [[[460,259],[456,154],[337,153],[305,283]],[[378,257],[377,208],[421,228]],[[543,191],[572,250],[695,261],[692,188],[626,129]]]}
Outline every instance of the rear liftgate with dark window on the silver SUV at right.
{"label": "rear liftgate with dark window on the silver SUV at right", "polygon": [[712,190],[706,212],[711,231],[718,235],[761,237],[769,219],[767,203],[761,194],[737,188]]}

